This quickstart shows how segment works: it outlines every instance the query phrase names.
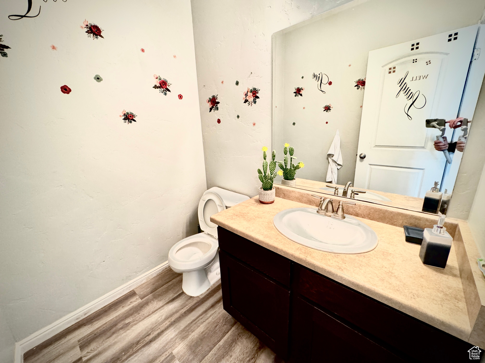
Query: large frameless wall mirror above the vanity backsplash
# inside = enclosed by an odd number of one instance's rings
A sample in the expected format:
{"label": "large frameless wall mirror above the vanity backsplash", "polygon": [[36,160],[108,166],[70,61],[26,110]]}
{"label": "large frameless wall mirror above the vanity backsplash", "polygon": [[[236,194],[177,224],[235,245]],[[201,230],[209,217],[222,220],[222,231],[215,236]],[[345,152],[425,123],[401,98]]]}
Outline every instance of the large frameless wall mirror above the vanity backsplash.
{"label": "large frameless wall mirror above the vanity backsplash", "polygon": [[446,213],[485,74],[482,8],[352,1],[275,33],[275,182]]}

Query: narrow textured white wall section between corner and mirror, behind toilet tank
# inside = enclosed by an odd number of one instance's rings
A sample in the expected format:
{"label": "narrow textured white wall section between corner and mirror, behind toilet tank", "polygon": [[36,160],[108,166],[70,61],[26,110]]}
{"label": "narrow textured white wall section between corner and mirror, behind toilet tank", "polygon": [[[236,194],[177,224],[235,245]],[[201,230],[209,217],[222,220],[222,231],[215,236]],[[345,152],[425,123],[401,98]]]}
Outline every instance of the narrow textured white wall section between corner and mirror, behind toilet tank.
{"label": "narrow textured white wall section between corner and mirror, behind toilet tank", "polygon": [[[258,194],[261,147],[271,145],[272,34],[346,2],[192,1],[208,187]],[[256,105],[242,104],[248,87],[260,89]],[[212,94],[221,102],[215,113],[206,103]]]}

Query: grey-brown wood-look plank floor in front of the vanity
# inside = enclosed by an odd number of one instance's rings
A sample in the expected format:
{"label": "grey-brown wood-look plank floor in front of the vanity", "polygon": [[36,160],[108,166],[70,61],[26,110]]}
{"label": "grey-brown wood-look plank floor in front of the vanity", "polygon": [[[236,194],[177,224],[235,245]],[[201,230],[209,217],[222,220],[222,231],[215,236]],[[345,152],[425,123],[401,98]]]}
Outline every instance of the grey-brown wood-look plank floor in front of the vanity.
{"label": "grey-brown wood-look plank floor in front of the vanity", "polygon": [[24,354],[25,363],[270,363],[275,353],[224,311],[220,281],[198,297],[170,267]]}

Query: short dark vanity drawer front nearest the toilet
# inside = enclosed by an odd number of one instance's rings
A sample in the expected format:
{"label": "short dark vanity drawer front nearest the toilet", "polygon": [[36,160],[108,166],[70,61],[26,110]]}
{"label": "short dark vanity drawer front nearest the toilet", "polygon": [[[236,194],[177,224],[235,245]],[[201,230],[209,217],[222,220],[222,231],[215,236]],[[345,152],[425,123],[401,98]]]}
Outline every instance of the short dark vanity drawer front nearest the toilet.
{"label": "short dark vanity drawer front nearest the toilet", "polygon": [[291,260],[225,228],[217,227],[217,235],[221,250],[290,287]]}

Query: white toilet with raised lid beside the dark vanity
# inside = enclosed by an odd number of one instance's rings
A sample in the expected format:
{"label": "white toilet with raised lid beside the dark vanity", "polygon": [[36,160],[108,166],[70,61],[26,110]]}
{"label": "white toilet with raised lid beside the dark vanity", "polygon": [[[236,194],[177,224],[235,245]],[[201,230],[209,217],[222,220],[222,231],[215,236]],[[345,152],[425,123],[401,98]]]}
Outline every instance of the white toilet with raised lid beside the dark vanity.
{"label": "white toilet with raised lid beside the dark vanity", "polygon": [[182,290],[187,295],[199,296],[221,278],[217,225],[210,222],[210,216],[248,199],[216,186],[200,198],[199,225],[204,232],[178,241],[168,252],[168,264],[172,270],[183,273]]}

